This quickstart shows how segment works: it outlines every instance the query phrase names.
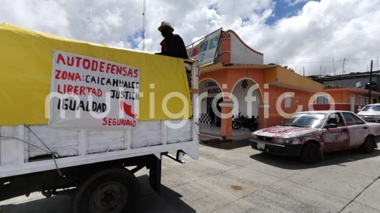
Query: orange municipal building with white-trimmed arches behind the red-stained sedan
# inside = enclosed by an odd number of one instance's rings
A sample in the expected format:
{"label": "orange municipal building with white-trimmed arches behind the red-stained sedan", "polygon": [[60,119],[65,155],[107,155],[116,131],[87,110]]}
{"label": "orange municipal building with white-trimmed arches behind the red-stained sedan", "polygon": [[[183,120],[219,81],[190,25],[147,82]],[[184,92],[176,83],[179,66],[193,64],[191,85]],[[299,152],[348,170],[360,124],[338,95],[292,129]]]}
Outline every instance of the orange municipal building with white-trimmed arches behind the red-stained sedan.
{"label": "orange municipal building with white-trimmed arches behind the red-stained sedan", "polygon": [[[297,111],[348,110],[366,104],[367,89],[323,89],[323,84],[276,65],[264,65],[263,53],[247,46],[229,30],[222,31],[212,65],[200,69],[199,123],[220,126],[232,135],[239,112],[258,119],[258,128],[278,125]],[[380,93],[372,92],[373,98]],[[368,101],[367,101],[368,102]],[[214,114],[216,112],[216,114]],[[218,113],[220,113],[218,115]]]}

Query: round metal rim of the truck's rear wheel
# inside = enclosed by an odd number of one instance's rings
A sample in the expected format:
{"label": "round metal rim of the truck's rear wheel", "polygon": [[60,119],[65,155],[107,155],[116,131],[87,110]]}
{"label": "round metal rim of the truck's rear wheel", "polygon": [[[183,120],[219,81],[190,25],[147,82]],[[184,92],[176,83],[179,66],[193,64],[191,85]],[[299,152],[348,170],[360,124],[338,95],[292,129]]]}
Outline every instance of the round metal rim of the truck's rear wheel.
{"label": "round metal rim of the truck's rear wheel", "polygon": [[110,181],[96,188],[90,199],[91,212],[120,212],[128,198],[128,192],[120,182]]}

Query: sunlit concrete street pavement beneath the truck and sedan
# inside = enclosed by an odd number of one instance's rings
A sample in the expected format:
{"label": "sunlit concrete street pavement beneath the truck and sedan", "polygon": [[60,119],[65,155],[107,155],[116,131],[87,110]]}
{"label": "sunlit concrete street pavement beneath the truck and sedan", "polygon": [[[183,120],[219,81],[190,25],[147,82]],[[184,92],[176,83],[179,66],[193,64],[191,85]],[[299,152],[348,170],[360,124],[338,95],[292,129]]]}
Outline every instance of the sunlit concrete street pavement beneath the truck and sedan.
{"label": "sunlit concrete street pavement beneath the truck and sedan", "polygon": [[[200,145],[186,164],[166,157],[162,195],[138,172],[138,212],[380,212],[380,150],[326,154],[309,166],[251,149],[247,141]],[[0,202],[0,212],[69,212],[70,197],[33,193]]]}

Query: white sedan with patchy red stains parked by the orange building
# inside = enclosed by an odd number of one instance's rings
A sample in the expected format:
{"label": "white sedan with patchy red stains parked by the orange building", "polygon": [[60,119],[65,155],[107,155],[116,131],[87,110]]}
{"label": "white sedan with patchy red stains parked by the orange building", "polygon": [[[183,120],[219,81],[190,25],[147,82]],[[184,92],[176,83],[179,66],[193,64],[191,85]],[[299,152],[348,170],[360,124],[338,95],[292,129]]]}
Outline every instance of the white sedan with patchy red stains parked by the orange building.
{"label": "white sedan with patchy red stains parked by the orange building", "polygon": [[281,156],[299,156],[316,163],[323,153],[360,148],[372,153],[380,140],[380,124],[367,123],[349,111],[308,111],[294,114],[280,126],[252,133],[254,149]]}

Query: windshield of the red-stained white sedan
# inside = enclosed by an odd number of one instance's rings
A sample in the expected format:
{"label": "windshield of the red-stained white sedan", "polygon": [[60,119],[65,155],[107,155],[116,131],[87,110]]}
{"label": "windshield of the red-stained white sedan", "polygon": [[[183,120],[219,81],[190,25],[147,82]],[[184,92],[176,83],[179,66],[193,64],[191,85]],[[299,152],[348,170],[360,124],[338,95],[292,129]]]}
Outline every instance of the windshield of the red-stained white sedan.
{"label": "windshield of the red-stained white sedan", "polygon": [[284,120],[280,125],[289,127],[319,128],[326,113],[298,113]]}

